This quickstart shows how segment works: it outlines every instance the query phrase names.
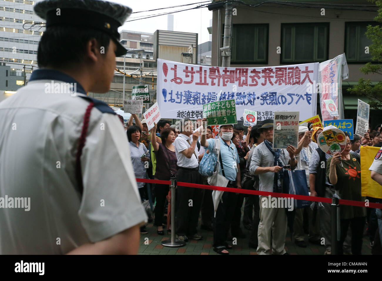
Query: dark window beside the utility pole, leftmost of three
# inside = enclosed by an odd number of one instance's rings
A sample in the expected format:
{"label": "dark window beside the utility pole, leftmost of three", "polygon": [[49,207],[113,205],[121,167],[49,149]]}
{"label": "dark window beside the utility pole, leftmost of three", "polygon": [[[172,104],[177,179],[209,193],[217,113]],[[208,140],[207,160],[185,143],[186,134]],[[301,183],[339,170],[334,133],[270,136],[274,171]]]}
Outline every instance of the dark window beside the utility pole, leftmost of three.
{"label": "dark window beside the utility pole, leftmost of three", "polygon": [[268,24],[234,24],[231,62],[268,63]]}

